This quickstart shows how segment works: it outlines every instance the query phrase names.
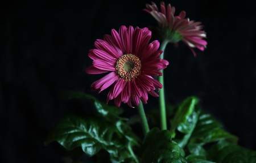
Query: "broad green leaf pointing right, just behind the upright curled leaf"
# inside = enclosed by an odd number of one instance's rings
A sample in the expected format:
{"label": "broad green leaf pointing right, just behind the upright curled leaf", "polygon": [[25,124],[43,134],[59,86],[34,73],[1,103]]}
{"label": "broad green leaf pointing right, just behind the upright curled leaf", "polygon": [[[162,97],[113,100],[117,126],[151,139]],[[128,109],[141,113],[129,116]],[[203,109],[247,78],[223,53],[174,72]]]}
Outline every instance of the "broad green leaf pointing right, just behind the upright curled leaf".
{"label": "broad green leaf pointing right, just behind the upright curled leaf", "polygon": [[192,143],[209,143],[212,141],[218,141],[223,139],[229,139],[236,143],[238,138],[226,132],[221,127],[221,123],[218,122],[212,115],[205,113],[202,110],[198,111],[199,119],[197,121],[195,130],[191,135]]}

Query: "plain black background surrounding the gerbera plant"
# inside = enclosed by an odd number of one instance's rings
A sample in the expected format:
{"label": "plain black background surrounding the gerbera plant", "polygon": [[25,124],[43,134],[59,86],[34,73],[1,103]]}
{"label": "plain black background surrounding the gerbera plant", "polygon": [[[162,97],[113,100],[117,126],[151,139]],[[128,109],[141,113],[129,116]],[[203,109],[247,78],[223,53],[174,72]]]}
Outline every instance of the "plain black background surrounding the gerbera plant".
{"label": "plain black background surrounding the gerbera plant", "polygon": [[[159,1],[155,1],[159,5]],[[0,143],[2,162],[63,162],[65,149],[43,144],[56,121],[68,113],[86,114],[86,102],[61,101],[61,91],[90,91],[102,75],[85,74],[94,41],[121,25],[157,25],[142,11],[150,1],[2,2],[0,44]],[[208,46],[197,57],[179,42],[167,46],[166,98],[177,104],[197,96],[239,143],[256,149],[254,1],[166,1],[205,25]],[[152,41],[152,40],[151,40]],[[151,42],[150,41],[150,42]],[[148,100],[146,110],[157,98]],[[109,105],[113,105],[110,101]],[[136,113],[122,104],[123,116]],[[84,158],[86,160],[86,158]]]}

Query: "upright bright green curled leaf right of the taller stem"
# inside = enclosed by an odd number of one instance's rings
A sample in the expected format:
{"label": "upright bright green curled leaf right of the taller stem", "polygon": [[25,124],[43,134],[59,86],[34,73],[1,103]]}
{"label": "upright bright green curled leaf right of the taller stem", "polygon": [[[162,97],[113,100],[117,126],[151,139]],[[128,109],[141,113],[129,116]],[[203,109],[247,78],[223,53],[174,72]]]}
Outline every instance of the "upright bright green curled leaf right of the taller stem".
{"label": "upright bright green curled leaf right of the taller stem", "polygon": [[[181,125],[181,123],[185,123],[187,122],[187,116],[191,115],[195,105],[197,104],[198,99],[196,97],[188,97],[186,98],[179,106],[179,108],[177,109],[174,118],[171,119],[171,135],[172,138],[175,138],[175,130],[176,128]],[[182,130],[183,132],[188,132],[186,131],[186,128],[183,128],[184,130]],[[181,127],[180,127],[181,130]],[[188,130],[188,129],[187,129]],[[187,134],[187,133],[186,133]]]}

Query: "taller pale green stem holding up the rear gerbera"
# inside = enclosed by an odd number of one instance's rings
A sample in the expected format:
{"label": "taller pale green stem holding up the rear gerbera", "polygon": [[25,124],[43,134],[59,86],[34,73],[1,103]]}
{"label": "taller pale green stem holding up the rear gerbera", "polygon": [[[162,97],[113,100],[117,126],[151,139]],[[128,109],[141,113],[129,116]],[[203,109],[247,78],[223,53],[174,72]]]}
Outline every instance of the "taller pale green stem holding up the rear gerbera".
{"label": "taller pale green stem holding up the rear gerbera", "polygon": [[[164,40],[160,45],[160,50],[163,50],[163,53],[160,55],[160,58],[164,58],[164,49],[166,49],[166,45],[168,44],[168,40]],[[163,73],[163,70],[160,70]],[[164,96],[164,73],[162,76],[159,76],[159,82],[163,85],[163,88],[159,91],[159,103],[160,103],[160,123],[161,129],[167,130],[167,122],[166,122],[166,100]]]}

